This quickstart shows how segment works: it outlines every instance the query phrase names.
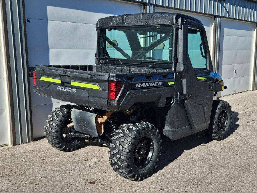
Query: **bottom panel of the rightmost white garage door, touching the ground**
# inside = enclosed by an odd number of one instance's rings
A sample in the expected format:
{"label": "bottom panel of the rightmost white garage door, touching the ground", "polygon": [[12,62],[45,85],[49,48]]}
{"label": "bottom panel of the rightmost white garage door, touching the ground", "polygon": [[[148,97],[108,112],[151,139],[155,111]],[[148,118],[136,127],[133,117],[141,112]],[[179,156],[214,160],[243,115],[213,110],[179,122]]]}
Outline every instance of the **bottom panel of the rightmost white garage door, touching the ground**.
{"label": "bottom panel of the rightmost white garage door, touching the ground", "polygon": [[224,79],[224,83],[224,86],[227,86],[228,88],[219,92],[218,97],[250,90],[251,76]]}

